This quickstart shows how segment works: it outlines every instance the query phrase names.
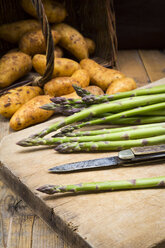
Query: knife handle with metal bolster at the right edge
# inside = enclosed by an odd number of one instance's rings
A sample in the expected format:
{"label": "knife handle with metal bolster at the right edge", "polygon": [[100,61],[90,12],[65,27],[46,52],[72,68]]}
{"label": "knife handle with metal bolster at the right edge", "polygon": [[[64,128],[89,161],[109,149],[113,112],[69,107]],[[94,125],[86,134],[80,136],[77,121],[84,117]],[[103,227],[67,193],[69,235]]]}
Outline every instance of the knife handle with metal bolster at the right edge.
{"label": "knife handle with metal bolster at the right edge", "polygon": [[134,147],[120,151],[118,156],[121,159],[123,166],[160,162],[165,160],[165,145]]}

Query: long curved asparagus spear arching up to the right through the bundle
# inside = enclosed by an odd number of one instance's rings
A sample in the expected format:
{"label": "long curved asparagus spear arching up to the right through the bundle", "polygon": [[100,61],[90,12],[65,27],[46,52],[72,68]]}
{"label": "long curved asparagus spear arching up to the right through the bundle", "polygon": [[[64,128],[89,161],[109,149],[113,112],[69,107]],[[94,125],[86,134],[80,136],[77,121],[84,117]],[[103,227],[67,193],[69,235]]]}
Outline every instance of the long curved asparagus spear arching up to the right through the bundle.
{"label": "long curved asparagus spear arching up to the right through the bundle", "polygon": [[[56,122],[55,124],[51,125],[50,127],[42,130],[41,132],[32,135],[30,138],[33,137],[44,137],[45,135],[56,131],[58,129],[60,129],[61,127],[64,127],[66,125],[72,124],[74,122],[77,121],[81,121],[84,118],[87,117],[92,117],[92,116],[96,116],[98,114],[101,113],[106,113],[106,112],[121,112],[123,110],[128,110],[128,109],[132,109],[132,108],[136,108],[136,107],[140,107],[140,106],[146,106],[146,105],[151,105],[151,104],[155,104],[158,102],[163,102],[165,99],[165,94],[157,94],[157,95],[151,95],[151,96],[138,96],[138,97],[134,97],[134,98],[129,98],[129,99],[124,99],[122,102],[120,101],[115,101],[114,103],[103,103],[103,104],[98,104],[98,105],[93,105],[90,108],[84,109],[81,112],[78,112],[72,116],[66,117],[63,121],[60,122]],[[164,106],[162,106],[163,108]],[[148,109],[148,111],[155,111],[157,109],[161,109],[160,108],[156,108],[156,109]],[[133,110],[132,110],[133,111]],[[133,116],[136,115],[138,112],[135,111],[135,114],[133,112],[131,112],[131,115],[128,116]],[[142,112],[139,112],[142,113]],[[138,114],[139,114],[138,113]],[[124,112],[123,112],[124,114]],[[114,118],[111,116],[112,120],[113,119],[117,119],[120,118],[122,115],[113,115]],[[105,117],[106,118],[106,117]],[[107,117],[108,118],[108,117]],[[110,117],[109,117],[110,118]],[[124,116],[123,116],[124,118]],[[108,119],[107,119],[108,121]],[[102,122],[104,122],[104,120],[102,119]],[[100,123],[102,123],[100,122]]]}

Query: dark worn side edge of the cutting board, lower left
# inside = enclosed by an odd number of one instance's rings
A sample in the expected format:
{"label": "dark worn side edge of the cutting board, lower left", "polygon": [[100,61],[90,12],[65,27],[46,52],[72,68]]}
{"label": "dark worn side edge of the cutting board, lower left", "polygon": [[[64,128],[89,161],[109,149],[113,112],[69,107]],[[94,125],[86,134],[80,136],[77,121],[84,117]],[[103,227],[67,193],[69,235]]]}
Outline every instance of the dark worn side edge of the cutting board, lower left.
{"label": "dark worn side edge of the cutting board, lower left", "polygon": [[[164,83],[165,78],[156,81],[156,85],[161,85]],[[142,88],[151,87],[153,84],[155,85],[155,82],[150,83],[149,85],[146,85]],[[7,136],[5,136],[4,139],[6,137]],[[1,142],[3,142],[3,139]],[[19,195],[19,197],[36,213],[36,215],[43,219],[66,242],[71,244],[72,247],[92,247],[83,237],[73,230],[74,228],[72,229],[70,226],[68,227],[64,220],[54,213],[53,208],[48,207],[45,202],[37,196],[37,194],[32,192],[22,181],[20,181],[16,175],[11,173],[7,166],[2,163],[2,161],[0,166],[0,174],[2,175],[4,183],[7,184],[7,186],[11,188],[14,193]],[[17,185],[15,184],[16,181]],[[34,200],[32,201],[32,199]],[[162,240],[162,242],[164,243],[165,240]]]}

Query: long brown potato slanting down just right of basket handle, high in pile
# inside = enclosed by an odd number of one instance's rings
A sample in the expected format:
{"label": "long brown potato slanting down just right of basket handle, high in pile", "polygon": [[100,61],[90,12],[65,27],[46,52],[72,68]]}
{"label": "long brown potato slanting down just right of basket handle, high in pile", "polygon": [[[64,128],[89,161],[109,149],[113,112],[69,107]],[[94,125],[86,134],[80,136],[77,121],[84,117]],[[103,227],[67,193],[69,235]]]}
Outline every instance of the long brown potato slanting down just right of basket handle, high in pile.
{"label": "long brown potato slanting down just right of basket handle, high in pile", "polygon": [[73,27],[65,23],[52,26],[61,34],[59,44],[72,53],[77,59],[88,58],[88,47],[84,37]]}

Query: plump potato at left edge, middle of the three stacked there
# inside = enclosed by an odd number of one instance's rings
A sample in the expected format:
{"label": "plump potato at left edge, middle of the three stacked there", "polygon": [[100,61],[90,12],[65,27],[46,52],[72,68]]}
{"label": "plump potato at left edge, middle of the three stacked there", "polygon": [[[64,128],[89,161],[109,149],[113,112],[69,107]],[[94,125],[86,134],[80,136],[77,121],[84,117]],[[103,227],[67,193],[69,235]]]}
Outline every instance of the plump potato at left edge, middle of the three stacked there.
{"label": "plump potato at left edge, middle of the three stacked there", "polygon": [[0,88],[7,87],[24,76],[32,68],[31,57],[12,51],[0,59]]}

